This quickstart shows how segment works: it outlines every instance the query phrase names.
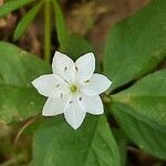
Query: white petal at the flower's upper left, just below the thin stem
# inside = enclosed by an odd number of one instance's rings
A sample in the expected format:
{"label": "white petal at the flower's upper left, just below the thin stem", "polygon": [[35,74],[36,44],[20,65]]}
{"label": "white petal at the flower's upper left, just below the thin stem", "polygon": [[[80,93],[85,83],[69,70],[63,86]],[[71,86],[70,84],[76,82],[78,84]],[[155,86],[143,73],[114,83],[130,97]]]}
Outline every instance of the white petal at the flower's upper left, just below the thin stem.
{"label": "white petal at the flower's upper left, just below the thin stem", "polygon": [[55,52],[52,62],[53,73],[63,77],[68,82],[72,82],[75,75],[75,64],[68,55]]}

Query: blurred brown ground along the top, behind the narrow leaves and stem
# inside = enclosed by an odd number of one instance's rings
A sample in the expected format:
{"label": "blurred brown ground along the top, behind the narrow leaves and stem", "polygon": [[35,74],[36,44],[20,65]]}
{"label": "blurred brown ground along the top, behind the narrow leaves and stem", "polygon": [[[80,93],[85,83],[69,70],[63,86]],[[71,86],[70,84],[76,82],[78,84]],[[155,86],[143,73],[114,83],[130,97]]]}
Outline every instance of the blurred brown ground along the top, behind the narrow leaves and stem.
{"label": "blurred brown ground along the top, behind the narrow leaves and stem", "polygon": [[[2,4],[4,0],[0,0]],[[111,27],[123,18],[131,15],[145,6],[149,0],[60,0],[69,31],[89,39],[97,53],[101,53],[105,35]],[[27,12],[21,8],[0,19],[0,40],[13,43],[13,32],[19,20]],[[14,44],[22,49],[43,55],[43,15],[38,14],[23,38]],[[52,28],[52,51],[58,49],[56,33]]]}

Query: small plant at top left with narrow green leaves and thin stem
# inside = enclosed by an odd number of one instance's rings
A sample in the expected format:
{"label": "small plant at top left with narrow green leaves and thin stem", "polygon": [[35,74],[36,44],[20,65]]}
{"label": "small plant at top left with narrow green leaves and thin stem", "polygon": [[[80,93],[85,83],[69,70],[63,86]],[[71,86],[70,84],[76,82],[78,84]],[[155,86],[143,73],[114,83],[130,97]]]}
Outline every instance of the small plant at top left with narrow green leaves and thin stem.
{"label": "small plant at top left with narrow green leaves and thin stem", "polygon": [[68,41],[68,31],[65,28],[65,22],[61,8],[56,0],[11,0],[7,1],[3,6],[0,7],[0,17],[6,17],[11,11],[14,11],[21,7],[32,4],[27,14],[18,23],[13,40],[19,40],[31,22],[34,20],[39,11],[44,8],[44,60],[50,62],[51,59],[51,19],[52,12],[54,12],[54,23],[58,32],[58,39],[60,42],[60,48],[65,45]]}

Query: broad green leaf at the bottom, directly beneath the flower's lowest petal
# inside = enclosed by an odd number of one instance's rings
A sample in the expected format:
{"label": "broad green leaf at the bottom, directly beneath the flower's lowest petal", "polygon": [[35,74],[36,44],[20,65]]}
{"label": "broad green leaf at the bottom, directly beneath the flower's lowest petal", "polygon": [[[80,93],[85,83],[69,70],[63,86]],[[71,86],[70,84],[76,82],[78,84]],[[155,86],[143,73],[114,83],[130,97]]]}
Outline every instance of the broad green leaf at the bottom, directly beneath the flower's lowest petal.
{"label": "broad green leaf at the bottom, directly beneath the flower's lowest petal", "polygon": [[37,131],[33,162],[35,166],[120,166],[120,154],[104,116],[86,116],[76,131],[56,116]]}

